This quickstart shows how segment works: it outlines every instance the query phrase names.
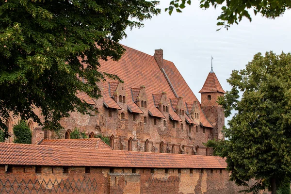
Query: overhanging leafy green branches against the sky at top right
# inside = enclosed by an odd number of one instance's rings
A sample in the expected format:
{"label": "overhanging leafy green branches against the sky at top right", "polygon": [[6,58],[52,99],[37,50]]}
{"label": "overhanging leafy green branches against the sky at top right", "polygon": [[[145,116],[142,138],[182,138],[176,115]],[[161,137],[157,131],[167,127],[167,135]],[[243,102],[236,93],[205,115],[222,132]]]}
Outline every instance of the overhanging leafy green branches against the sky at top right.
{"label": "overhanging leafy green branches against the sky at top right", "polygon": [[[182,12],[181,9],[184,9],[186,4],[190,5],[191,0],[171,0],[165,11],[168,11],[170,15],[173,10]],[[210,5],[214,8],[222,5],[221,15],[217,17],[219,20],[217,25],[228,29],[230,25],[238,24],[243,17],[252,21],[249,14],[250,9],[254,11],[255,15],[260,13],[264,17],[275,19],[291,8],[291,0],[200,0],[200,8],[208,9]]]}

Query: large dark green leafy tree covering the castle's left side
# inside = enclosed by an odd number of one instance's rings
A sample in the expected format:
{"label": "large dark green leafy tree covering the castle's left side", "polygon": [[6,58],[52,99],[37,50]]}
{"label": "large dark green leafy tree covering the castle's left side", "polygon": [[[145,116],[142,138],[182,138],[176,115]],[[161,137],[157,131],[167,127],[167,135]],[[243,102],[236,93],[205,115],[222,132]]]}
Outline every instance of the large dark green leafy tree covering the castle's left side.
{"label": "large dark green leafy tree covering the castle's left side", "polygon": [[[118,60],[129,27],[160,13],[146,0],[0,0],[0,128],[9,113],[60,129],[69,112],[88,113],[76,97],[98,98],[99,60]],[[40,109],[44,122],[33,110]],[[91,108],[92,109],[92,108]]]}

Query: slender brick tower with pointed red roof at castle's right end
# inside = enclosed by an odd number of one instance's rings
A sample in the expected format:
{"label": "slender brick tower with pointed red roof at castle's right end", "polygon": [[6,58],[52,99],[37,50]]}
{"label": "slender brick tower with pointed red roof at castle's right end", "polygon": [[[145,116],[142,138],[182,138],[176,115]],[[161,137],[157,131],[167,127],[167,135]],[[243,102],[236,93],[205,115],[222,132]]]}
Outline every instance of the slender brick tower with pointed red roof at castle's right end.
{"label": "slender brick tower with pointed red roof at castle's right end", "polygon": [[222,88],[213,71],[212,63],[210,73],[208,74],[207,79],[199,93],[201,94],[201,108],[213,126],[211,132],[212,138],[224,139],[221,132],[225,124],[224,110],[217,103],[217,98],[224,96],[226,92]]}

